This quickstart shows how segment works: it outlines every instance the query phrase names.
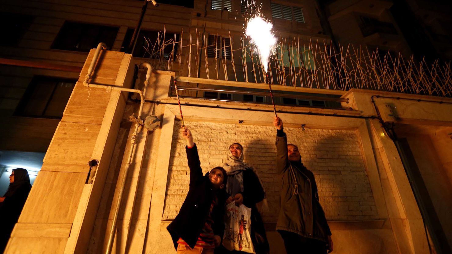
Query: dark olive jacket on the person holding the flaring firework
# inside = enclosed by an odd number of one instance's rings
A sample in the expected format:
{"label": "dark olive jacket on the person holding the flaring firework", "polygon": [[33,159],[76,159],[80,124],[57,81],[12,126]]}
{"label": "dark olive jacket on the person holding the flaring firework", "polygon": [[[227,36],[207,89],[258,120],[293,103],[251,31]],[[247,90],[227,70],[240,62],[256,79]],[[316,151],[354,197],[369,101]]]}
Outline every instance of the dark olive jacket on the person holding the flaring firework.
{"label": "dark olive jacket on the person holding the flaring firework", "polygon": [[276,148],[276,171],[281,183],[281,209],[276,230],[327,241],[331,231],[320,206],[314,174],[303,163],[288,160],[287,136],[282,130],[278,130]]}

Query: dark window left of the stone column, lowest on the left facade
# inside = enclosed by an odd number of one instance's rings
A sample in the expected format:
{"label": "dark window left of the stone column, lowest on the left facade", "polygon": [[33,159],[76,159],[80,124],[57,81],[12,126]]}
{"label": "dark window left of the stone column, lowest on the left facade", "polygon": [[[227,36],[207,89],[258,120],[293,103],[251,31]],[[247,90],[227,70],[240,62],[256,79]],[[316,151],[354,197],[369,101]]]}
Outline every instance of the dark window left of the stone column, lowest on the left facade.
{"label": "dark window left of the stone column, lowest on the left facade", "polygon": [[35,76],[14,115],[61,119],[76,79]]}

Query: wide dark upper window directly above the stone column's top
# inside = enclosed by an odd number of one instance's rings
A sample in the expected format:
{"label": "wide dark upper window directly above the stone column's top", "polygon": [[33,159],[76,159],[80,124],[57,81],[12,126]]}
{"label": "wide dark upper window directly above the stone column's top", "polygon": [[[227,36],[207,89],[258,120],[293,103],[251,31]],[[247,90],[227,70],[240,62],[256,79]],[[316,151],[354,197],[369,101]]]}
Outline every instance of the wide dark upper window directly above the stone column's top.
{"label": "wide dark upper window directly above the stone column's top", "polygon": [[66,21],[51,48],[89,52],[90,49],[97,47],[99,42],[104,42],[111,47],[118,30],[117,27]]}

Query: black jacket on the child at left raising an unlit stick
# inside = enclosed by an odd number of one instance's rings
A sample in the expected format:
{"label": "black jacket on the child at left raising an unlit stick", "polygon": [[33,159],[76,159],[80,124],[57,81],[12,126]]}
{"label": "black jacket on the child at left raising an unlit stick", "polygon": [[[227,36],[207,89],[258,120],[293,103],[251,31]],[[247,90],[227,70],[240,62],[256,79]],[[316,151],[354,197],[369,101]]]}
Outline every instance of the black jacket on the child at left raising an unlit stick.
{"label": "black jacket on the child at left raising an unlit stick", "polygon": [[209,180],[208,173],[202,175],[201,162],[199,161],[198,148],[185,147],[187,152],[188,167],[190,168],[190,185],[179,214],[174,221],[166,227],[173,239],[174,248],[177,249],[177,241],[182,238],[191,248],[194,248],[202,228],[206,224],[210,206],[215,195],[218,203],[212,210],[213,233],[223,236],[224,233],[224,203],[229,197],[224,189],[215,191]]}

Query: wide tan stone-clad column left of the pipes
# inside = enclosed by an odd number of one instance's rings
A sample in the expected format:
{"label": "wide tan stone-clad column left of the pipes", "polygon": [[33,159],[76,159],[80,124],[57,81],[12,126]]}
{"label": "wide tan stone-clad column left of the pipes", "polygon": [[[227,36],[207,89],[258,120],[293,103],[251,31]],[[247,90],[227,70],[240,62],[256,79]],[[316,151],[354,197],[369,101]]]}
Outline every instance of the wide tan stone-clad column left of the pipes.
{"label": "wide tan stone-clad column left of the pipes", "polygon": [[[44,164],[5,250],[85,253],[118,135],[127,93],[86,88],[88,55]],[[102,51],[92,83],[130,88],[132,55]],[[90,167],[89,161],[98,165]]]}

